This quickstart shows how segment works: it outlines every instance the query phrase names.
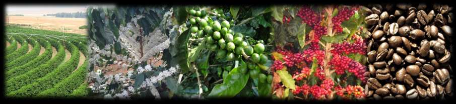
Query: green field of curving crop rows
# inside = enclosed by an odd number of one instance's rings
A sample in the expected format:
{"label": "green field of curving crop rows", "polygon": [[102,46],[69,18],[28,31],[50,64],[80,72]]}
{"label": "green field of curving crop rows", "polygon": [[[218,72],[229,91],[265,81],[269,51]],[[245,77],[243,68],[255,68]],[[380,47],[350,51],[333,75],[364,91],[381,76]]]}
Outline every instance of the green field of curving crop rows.
{"label": "green field of curving crop rows", "polygon": [[6,96],[87,95],[86,36],[17,26],[6,32]]}

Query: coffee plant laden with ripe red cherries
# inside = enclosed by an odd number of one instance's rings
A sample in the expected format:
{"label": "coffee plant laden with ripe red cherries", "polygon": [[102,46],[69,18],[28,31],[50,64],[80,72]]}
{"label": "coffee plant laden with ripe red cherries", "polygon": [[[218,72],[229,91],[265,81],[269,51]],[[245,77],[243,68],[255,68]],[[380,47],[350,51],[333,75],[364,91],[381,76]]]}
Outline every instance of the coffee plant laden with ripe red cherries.
{"label": "coffee plant laden with ripe red cherries", "polygon": [[364,99],[360,6],[276,6],[273,98]]}

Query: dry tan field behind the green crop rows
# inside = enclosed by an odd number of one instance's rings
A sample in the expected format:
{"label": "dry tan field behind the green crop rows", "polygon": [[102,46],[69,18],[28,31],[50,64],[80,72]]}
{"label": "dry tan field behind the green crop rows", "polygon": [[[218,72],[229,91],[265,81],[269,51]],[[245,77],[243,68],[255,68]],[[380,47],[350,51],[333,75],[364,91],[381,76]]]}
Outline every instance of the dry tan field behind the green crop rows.
{"label": "dry tan field behind the green crop rows", "polygon": [[87,34],[87,29],[79,29],[79,27],[87,24],[87,20],[81,18],[8,16],[5,18],[5,23],[59,32],[63,31],[62,27],[64,27],[65,33]]}

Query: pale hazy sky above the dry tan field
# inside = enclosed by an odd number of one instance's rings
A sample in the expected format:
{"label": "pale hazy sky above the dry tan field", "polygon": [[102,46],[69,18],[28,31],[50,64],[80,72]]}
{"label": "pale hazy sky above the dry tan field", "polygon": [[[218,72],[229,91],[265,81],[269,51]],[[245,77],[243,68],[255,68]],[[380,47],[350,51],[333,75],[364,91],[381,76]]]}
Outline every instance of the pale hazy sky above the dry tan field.
{"label": "pale hazy sky above the dry tan field", "polygon": [[8,15],[40,17],[44,14],[85,12],[89,5],[7,5]]}

